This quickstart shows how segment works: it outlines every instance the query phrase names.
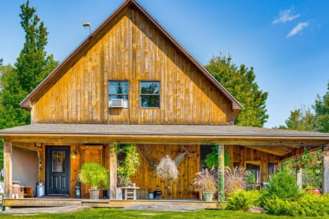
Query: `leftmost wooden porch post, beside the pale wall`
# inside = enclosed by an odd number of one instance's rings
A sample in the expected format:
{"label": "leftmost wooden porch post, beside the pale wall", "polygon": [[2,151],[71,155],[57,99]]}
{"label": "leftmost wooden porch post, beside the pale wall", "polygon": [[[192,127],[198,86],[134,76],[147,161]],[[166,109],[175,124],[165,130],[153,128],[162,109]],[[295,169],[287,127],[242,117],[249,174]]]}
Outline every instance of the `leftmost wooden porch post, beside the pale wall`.
{"label": "leftmost wooden porch post, beside the pale wall", "polygon": [[12,143],[3,142],[3,167],[5,169],[5,196],[12,194]]}

